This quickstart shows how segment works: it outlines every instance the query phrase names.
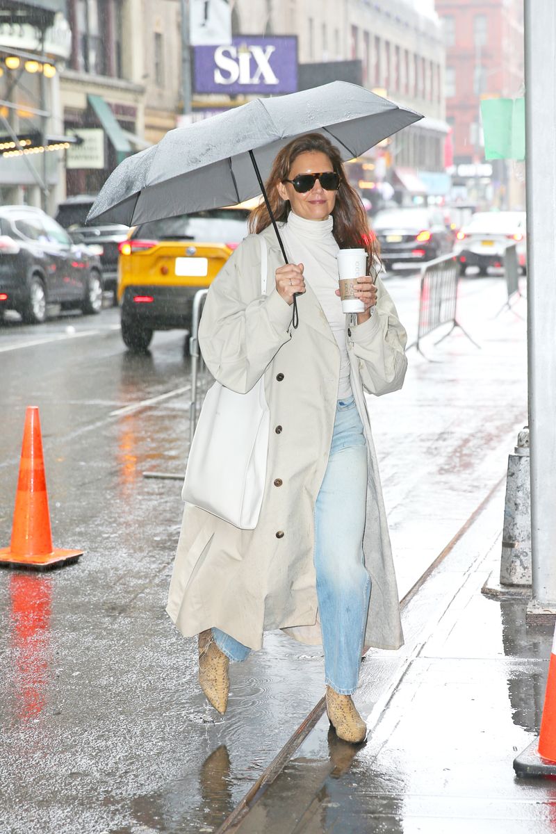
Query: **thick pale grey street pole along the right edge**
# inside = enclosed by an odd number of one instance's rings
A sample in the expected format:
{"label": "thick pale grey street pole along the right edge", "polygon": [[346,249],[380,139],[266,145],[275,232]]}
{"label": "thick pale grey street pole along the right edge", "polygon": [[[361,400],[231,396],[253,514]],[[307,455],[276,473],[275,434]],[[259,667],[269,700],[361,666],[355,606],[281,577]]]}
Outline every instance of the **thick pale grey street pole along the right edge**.
{"label": "thick pale grey street pole along the right edge", "polygon": [[524,10],[534,621],[556,614],[556,4],[525,0]]}

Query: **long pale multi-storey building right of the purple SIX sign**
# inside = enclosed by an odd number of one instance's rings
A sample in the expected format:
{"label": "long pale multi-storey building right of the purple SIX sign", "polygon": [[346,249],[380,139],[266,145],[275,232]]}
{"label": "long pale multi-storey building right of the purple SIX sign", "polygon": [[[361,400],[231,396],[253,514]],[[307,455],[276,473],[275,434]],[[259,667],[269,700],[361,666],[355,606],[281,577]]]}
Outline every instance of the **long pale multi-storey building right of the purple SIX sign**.
{"label": "long pale multi-storey building right of the purple SIX sign", "polygon": [[318,63],[320,83],[336,77],[334,63],[358,61],[359,83],[423,113],[352,169],[373,208],[383,198],[423,202],[448,193],[443,30],[432,4],[423,12],[416,0],[236,0],[234,10],[246,36],[297,35],[300,68]]}

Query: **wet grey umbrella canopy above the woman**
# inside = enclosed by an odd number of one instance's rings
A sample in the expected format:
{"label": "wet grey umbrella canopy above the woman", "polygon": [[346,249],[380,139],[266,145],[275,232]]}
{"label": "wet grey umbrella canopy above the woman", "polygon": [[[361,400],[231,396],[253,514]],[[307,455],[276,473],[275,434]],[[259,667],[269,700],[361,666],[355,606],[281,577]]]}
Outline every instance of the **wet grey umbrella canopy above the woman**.
{"label": "wet grey umbrella canopy above the woman", "polygon": [[241,203],[261,193],[249,152],[263,179],[285,144],[323,133],[352,159],[423,118],[356,84],[334,81],[248,104],[185,128],[123,160],[104,183],[88,221],[128,226]]}

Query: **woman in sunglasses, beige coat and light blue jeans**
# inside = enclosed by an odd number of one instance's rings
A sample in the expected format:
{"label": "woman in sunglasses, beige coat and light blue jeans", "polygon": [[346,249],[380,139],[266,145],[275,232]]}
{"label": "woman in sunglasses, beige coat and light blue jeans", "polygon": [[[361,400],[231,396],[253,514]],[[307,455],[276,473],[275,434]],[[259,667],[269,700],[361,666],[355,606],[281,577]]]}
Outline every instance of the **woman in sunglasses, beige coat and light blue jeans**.
{"label": "woman in sunglasses, beige coat and light blue jeans", "polygon": [[[403,641],[363,389],[401,387],[406,334],[379,279],[360,279],[363,313],[342,313],[338,248],[365,246],[370,264],[374,252],[338,148],[319,133],[294,139],[274,160],[267,193],[290,263],[259,206],[254,234],[208,291],[199,328],[204,360],[222,384],[244,393],[264,374],[271,430],[263,507],[255,530],[238,530],[186,506],[168,614],[184,636],[199,635],[199,681],[220,712],[228,661],[259,649],[263,631],[322,642],[328,718],[338,736],[358,742],[366,726],[352,695],[363,646]],[[268,249],[266,296],[259,235]]]}

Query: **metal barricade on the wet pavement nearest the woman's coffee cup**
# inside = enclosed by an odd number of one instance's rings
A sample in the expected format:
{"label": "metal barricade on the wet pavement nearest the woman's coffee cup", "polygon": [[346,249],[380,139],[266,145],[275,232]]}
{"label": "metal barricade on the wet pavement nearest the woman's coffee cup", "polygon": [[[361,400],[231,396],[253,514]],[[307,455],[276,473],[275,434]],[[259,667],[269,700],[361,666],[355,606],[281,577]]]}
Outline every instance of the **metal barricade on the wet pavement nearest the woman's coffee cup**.
{"label": "metal barricade on the wet pavement nearest the woman's coffee cup", "polygon": [[[446,339],[458,327],[478,348],[478,344],[458,322],[458,284],[458,259],[453,253],[442,255],[421,266],[417,339],[408,349],[414,347],[425,356],[421,349],[421,340],[442,324],[452,324],[452,327],[436,344]],[[425,358],[428,359],[426,356]]]}

